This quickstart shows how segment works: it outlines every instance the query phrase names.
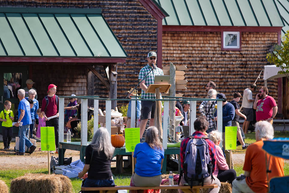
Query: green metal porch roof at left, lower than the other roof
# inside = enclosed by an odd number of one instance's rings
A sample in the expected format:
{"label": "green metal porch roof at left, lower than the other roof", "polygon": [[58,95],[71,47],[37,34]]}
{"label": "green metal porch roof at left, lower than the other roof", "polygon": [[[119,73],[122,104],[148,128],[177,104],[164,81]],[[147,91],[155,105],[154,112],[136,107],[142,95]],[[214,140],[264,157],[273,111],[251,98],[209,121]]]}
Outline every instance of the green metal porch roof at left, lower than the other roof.
{"label": "green metal porch roof at left, lower than the other roof", "polygon": [[100,9],[0,8],[0,26],[0,56],[127,56]]}

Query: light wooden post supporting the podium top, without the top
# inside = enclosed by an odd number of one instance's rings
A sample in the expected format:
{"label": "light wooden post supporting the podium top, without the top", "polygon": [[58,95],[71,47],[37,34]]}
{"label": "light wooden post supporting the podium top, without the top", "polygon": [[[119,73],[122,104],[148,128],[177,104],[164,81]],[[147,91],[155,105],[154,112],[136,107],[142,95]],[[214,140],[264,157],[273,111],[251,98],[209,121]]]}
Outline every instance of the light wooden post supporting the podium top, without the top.
{"label": "light wooden post supporting the podium top, without the top", "polygon": [[[160,88],[156,88],[155,90],[156,90],[156,98],[160,99]],[[154,126],[157,127],[159,131],[159,139],[162,142],[163,139],[162,106],[160,100],[156,100],[156,110],[154,112]]]}

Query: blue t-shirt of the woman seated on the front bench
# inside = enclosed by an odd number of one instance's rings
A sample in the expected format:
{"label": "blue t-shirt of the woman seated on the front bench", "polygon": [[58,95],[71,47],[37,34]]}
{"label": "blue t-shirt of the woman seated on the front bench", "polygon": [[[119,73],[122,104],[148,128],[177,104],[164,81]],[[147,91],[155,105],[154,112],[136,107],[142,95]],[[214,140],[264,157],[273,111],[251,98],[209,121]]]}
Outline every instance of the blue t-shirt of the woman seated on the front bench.
{"label": "blue t-shirt of the woman seated on the front bench", "polygon": [[136,158],[135,173],[142,177],[161,175],[161,161],[164,150],[152,149],[146,142],[137,144],[133,157]]}

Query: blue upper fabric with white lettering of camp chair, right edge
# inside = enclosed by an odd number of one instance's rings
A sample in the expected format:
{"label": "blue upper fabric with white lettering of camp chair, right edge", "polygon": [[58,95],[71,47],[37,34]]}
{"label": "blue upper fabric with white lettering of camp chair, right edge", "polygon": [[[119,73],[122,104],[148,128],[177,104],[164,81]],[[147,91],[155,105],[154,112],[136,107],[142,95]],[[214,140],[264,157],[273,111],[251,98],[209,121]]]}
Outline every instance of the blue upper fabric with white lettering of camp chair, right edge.
{"label": "blue upper fabric with white lettering of camp chair, right edge", "polygon": [[273,138],[264,141],[263,149],[273,156],[289,159],[289,138]]}

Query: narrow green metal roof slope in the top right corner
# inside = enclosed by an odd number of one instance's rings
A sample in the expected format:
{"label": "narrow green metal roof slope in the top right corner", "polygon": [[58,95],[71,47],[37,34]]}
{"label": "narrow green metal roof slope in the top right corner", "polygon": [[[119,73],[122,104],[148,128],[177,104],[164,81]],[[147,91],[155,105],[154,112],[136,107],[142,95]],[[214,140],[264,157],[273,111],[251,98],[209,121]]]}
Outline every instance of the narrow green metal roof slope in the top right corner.
{"label": "narrow green metal roof slope in the top right corner", "polygon": [[275,0],[275,3],[285,24],[281,30],[281,36],[283,37],[289,30],[289,2],[287,0]]}

